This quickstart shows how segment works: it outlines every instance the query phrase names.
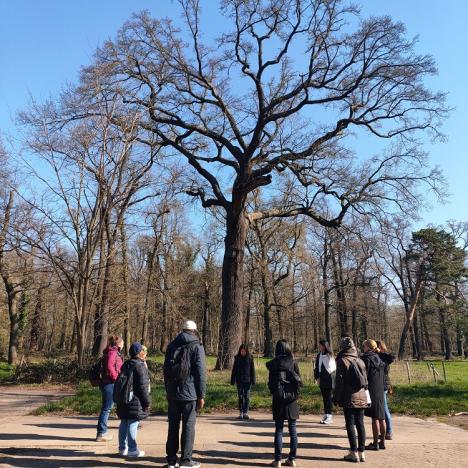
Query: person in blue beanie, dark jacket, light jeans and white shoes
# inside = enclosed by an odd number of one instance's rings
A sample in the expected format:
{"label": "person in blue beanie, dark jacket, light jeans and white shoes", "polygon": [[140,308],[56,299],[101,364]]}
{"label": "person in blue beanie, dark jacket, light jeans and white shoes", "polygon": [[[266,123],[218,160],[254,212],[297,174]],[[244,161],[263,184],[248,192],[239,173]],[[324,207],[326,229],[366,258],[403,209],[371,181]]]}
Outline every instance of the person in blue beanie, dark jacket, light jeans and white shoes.
{"label": "person in blue beanie, dark jacket, light jeans and white shoes", "polygon": [[[149,415],[150,380],[145,363],[146,351],[143,346],[140,343],[133,343],[130,346],[129,354],[130,359],[123,364],[115,384],[115,390],[118,393],[122,377],[124,377],[124,382],[131,382],[129,384],[129,401],[119,402],[117,399],[117,416],[120,418],[119,455],[140,458],[145,456],[145,452],[138,449],[136,438],[140,421]],[[114,399],[115,397],[114,394]]]}

